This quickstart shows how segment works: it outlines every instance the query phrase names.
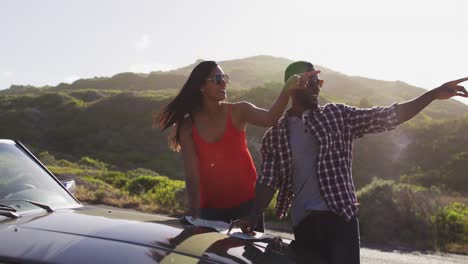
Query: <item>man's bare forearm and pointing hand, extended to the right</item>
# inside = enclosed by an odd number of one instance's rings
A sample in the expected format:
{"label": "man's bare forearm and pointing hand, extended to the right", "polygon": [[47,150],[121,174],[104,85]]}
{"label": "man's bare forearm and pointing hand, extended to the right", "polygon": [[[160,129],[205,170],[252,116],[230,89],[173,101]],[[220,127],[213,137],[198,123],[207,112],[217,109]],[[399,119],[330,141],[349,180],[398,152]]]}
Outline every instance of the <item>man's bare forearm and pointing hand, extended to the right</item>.
{"label": "man's bare forearm and pointing hand, extended to the right", "polygon": [[468,78],[462,78],[444,83],[443,85],[427,91],[411,101],[399,104],[397,107],[398,124],[410,120],[436,99],[444,100],[453,96],[468,97],[468,92],[466,89],[459,85],[460,83],[467,80]]}

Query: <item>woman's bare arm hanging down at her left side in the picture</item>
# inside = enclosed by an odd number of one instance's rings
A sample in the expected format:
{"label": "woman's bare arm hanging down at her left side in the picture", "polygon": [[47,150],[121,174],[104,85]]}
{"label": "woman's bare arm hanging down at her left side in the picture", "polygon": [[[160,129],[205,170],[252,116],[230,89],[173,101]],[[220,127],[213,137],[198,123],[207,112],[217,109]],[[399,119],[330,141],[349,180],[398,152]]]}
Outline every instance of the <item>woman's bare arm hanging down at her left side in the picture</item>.
{"label": "woman's bare arm hanging down at her left side in the picture", "polygon": [[192,121],[186,118],[180,127],[180,146],[184,160],[185,188],[189,199],[189,212],[198,217],[200,207],[200,192],[198,190],[200,176],[198,171],[198,156],[192,138]]}

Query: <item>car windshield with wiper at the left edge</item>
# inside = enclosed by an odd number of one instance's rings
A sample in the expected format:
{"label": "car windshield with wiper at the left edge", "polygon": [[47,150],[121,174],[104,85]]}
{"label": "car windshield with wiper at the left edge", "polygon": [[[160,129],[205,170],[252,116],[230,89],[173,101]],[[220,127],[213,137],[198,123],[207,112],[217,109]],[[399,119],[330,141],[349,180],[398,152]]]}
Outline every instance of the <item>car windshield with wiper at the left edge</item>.
{"label": "car windshield with wiper at the left edge", "polygon": [[20,200],[36,201],[53,209],[80,205],[20,146],[0,140],[0,204],[11,206],[20,214],[30,210],[43,211]]}

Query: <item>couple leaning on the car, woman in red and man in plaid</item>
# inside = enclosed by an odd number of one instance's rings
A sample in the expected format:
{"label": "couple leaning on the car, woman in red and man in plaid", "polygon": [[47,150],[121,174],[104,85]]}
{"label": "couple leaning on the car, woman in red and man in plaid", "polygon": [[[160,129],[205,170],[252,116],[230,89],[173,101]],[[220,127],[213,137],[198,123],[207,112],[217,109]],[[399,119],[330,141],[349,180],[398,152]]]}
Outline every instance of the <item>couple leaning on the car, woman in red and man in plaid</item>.
{"label": "couple leaning on the car, woman in red and man in plaid", "polygon": [[[359,263],[353,140],[391,130],[435,99],[468,97],[458,85],[468,78],[401,104],[359,109],[319,106],[319,73],[309,62],[290,64],[284,88],[265,110],[249,102],[225,102],[229,76],[216,62],[204,61],[154,125],[175,126],[169,143],[182,151],[191,215],[226,222],[240,218],[246,232],[263,231],[263,211],[278,190],[277,215],[286,217],[292,205],[294,245],[307,253],[301,255],[314,252],[327,263]],[[292,106],[283,116],[290,98]],[[273,126],[263,138],[258,178],[246,144],[247,124]]]}

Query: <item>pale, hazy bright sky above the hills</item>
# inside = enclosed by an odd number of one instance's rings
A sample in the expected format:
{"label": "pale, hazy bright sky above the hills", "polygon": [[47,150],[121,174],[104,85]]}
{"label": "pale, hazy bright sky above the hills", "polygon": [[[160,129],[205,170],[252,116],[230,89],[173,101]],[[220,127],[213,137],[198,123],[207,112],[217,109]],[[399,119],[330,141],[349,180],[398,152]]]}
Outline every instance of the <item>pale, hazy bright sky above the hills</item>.
{"label": "pale, hazy bright sky above the hills", "polygon": [[256,55],[434,88],[468,76],[468,1],[0,0],[0,90]]}

